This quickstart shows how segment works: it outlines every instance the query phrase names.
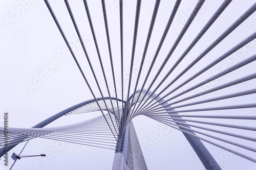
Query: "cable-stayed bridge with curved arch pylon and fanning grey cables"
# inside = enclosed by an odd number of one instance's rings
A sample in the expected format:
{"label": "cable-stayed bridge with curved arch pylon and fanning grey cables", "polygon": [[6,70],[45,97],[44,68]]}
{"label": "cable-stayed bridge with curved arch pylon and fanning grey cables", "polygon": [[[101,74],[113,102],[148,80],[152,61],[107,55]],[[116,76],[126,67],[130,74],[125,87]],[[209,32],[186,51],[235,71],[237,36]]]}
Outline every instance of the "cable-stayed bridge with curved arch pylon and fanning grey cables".
{"label": "cable-stayed bridge with curved arch pylon and fanning grey cables", "polygon": [[[251,43],[256,38],[256,32],[255,28],[250,28],[252,24],[247,20],[255,19],[256,3],[252,3],[223,32],[212,36],[214,38],[210,37],[210,40],[208,40],[204,38],[204,36],[207,36],[207,31],[212,26],[215,26],[218,19],[225,14],[225,10],[228,10],[234,3],[231,0],[223,1],[208,20],[201,24],[202,27],[198,27],[196,31],[194,30],[193,39],[189,40],[186,46],[184,44],[181,46],[180,44],[184,41],[186,33],[193,27],[193,21],[203,15],[200,10],[204,8],[203,5],[206,2],[203,0],[198,1],[177,36],[170,37],[168,36],[170,29],[175,27],[175,24],[177,26],[174,21],[175,17],[177,17],[177,11],[181,6],[186,5],[182,1],[177,0],[172,7],[168,7],[170,11],[168,20],[163,22],[161,17],[158,17],[161,12],[159,9],[163,7],[161,6],[164,3],[163,1],[154,1],[151,15],[145,19],[141,17],[144,16],[144,11],[141,9],[145,4],[143,1],[138,0],[136,2],[136,10],[131,10],[131,12],[134,12],[134,25],[126,28],[126,20],[123,14],[125,14],[124,10],[129,11],[129,8],[125,7],[129,3],[120,0],[118,2],[118,20],[114,20],[119,26],[119,41],[115,42],[114,45],[111,40],[111,35],[113,35],[111,30],[114,30],[111,23],[114,21],[111,19],[112,15],[108,15],[105,1],[102,0],[99,3],[100,6],[96,8],[90,7],[90,2],[83,0],[81,1],[83,5],[81,13],[83,12],[86,15],[82,16],[82,18],[84,20],[87,19],[87,32],[90,31],[92,40],[90,43],[95,48],[93,49],[95,51],[94,55],[90,55],[92,54],[90,52],[92,49],[87,48],[87,44],[81,36],[80,27],[84,26],[81,26],[80,18],[77,19],[76,17],[77,10],[72,8],[71,2],[65,0],[66,14],[69,15],[71,21],[69,29],[73,29],[76,32],[83,57],[88,64],[84,68],[66,36],[64,31],[66,28],[63,29],[61,25],[63,21],[59,22],[61,19],[59,17],[61,16],[58,14],[57,17],[57,14],[55,14],[56,9],[51,6],[51,4],[55,3],[45,0],[56,29],[58,29],[62,39],[65,41],[78,67],[81,79],[84,80],[90,95],[92,95],[92,99],[69,106],[32,128],[8,128],[9,150],[21,142],[28,142],[39,137],[113,150],[115,156],[112,169],[147,169],[132,122],[134,117],[143,115],[183,133],[205,169],[222,168],[203,142],[238,155],[241,159],[256,163],[255,157],[252,156],[256,152],[256,139],[254,137],[256,115],[253,114],[256,107],[254,100],[256,99],[256,88],[253,86],[255,83],[253,80],[256,78],[256,54],[252,54],[243,60],[233,61],[232,65],[225,65],[225,68],[215,75],[206,74],[207,71],[220,65],[223,61],[230,60],[232,54],[238,53],[244,47],[251,46]],[[103,41],[100,38],[103,34],[97,35],[96,33],[94,24],[98,20],[93,20],[95,16],[91,15],[92,11],[98,11],[103,17],[101,18],[104,26],[104,38],[102,39],[105,41],[106,48],[103,52],[100,48]],[[224,17],[228,18],[226,14]],[[143,37],[143,41],[139,41],[139,33],[141,33],[139,29],[140,27],[145,28],[145,20],[148,20],[146,22],[148,26],[143,30],[146,36]],[[154,28],[159,23],[164,29],[156,32]],[[239,32],[242,26],[245,28],[242,30],[249,34]],[[238,29],[240,30],[236,31]],[[129,35],[132,39],[132,43],[129,44],[131,47],[129,54],[131,56],[127,59],[125,45],[128,44],[125,39],[125,37],[127,38],[125,31],[128,30],[132,30],[133,34]],[[233,43],[230,37],[236,36],[241,38],[238,42]],[[169,41],[168,38],[173,39],[173,41]],[[199,51],[197,44],[201,40],[207,45]],[[167,45],[168,53],[163,56],[161,49],[162,47],[166,48],[166,41],[169,43]],[[119,46],[118,50],[116,46]],[[197,53],[193,51],[195,48]],[[217,50],[222,50],[220,54],[215,50],[216,48]],[[179,50],[181,53],[175,53],[175,50]],[[108,53],[105,53],[106,51]],[[139,58],[136,51],[140,51],[141,54],[139,55],[142,57],[139,66],[136,67],[136,69],[138,68],[137,75],[134,77],[135,60]],[[154,53],[151,54],[153,58],[150,60],[150,65],[145,66],[146,57],[149,55],[148,51],[150,53],[154,51]],[[188,57],[189,53],[192,52],[196,56]],[[108,59],[108,62],[105,62],[106,59]],[[95,60],[98,61],[97,66]],[[128,63],[127,60],[129,61]],[[118,67],[116,67],[117,61],[120,61]],[[187,62],[187,64],[184,65],[184,62]],[[125,65],[129,66],[127,81],[124,81]],[[182,68],[179,67],[180,65],[182,65]],[[184,77],[183,75],[186,75],[186,77],[182,78]],[[203,78],[198,79],[200,76]],[[228,77],[226,78],[227,81],[195,93],[195,90],[207,87],[206,85],[210,83],[214,84],[213,82],[218,82],[225,76]],[[120,80],[119,85],[117,80]],[[120,89],[118,86],[120,86]],[[240,88],[234,90],[234,87],[237,86]],[[246,88],[241,88],[243,86]],[[114,87],[114,92],[111,91],[111,87]],[[193,90],[194,93],[191,93]],[[106,92],[106,95],[104,92]],[[202,96],[204,99],[201,98]],[[101,112],[102,115],[73,125],[44,128],[64,115],[89,114],[96,111]],[[6,140],[4,131],[4,128],[1,128],[1,142]],[[226,143],[242,148],[245,152],[232,150],[225,146]],[[248,151],[252,154],[249,154]],[[0,147],[0,153],[1,157],[5,154],[4,146]]]}

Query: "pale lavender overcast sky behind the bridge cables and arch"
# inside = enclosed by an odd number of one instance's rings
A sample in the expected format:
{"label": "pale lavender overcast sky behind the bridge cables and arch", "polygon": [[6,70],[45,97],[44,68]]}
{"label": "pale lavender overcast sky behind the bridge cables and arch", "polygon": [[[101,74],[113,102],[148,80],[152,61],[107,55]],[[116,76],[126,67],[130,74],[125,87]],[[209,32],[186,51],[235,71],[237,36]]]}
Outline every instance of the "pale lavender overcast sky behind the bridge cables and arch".
{"label": "pale lavender overcast sky behind the bridge cables and arch", "polygon": [[[49,2],[52,5],[63,31],[73,46],[73,51],[76,54],[77,59],[81,64],[87,79],[89,80],[89,83],[93,87],[96,97],[100,97],[99,90],[93,79],[86,57],[83,54],[82,47],[79,44],[65,3],[60,0]],[[195,36],[199,33],[201,28],[209,20],[212,14],[214,14],[222,2],[223,1],[219,0],[206,0],[205,5],[202,7],[202,9],[200,9],[198,16],[191,24],[190,28],[184,35],[184,38],[176,48],[174,54],[167,62],[162,73],[159,75],[157,83],[153,86],[153,89],[174,64],[174,61],[181,56],[189,43],[195,38]],[[167,0],[162,0],[160,3],[153,35],[148,47],[141,74],[142,78],[140,79],[138,87],[141,87],[143,83],[143,78],[145,77],[148,67],[150,66],[154,57],[157,45],[165,29],[169,15],[172,12],[174,3],[174,1]],[[193,50],[189,52],[185,60],[180,63],[177,69],[173,72],[173,76],[170,76],[161,87],[167,85],[168,82],[177,76],[185,66],[200,55],[202,51],[205,50],[209,44],[211,44],[211,42],[221,35],[253,3],[255,3],[254,0],[235,0],[231,2],[223,14],[216,20],[214,25],[212,25],[201,40],[195,45]],[[121,99],[118,1],[105,0],[105,4],[106,12],[108,14],[118,98]],[[138,68],[140,66],[140,60],[143,54],[154,4],[155,1],[142,1],[131,91],[133,91],[135,87]],[[173,25],[169,29],[169,33],[167,34],[166,40],[162,46],[162,50],[159,53],[159,57],[157,58],[156,64],[153,67],[152,74],[148,79],[145,88],[150,85],[151,80],[153,80],[159,66],[168,54],[170,47],[176,40],[182,27],[184,26],[185,21],[196,4],[197,1],[194,0],[181,2],[181,5],[174,18]],[[108,44],[105,36],[101,3],[100,1],[88,0],[88,5],[93,20],[100,54],[103,60],[106,77],[110,86],[111,94],[114,96],[114,85],[110,69]],[[105,96],[107,96],[108,93],[103,81],[101,69],[99,67],[99,60],[83,3],[82,1],[70,1],[70,6],[76,18],[77,25],[80,29],[80,33],[83,37],[83,41],[91,58],[92,64],[96,69],[96,75],[98,80],[100,80],[102,92]],[[135,10],[136,1],[124,0],[124,94],[127,93],[129,81]],[[4,112],[6,111],[9,112],[10,127],[31,128],[37,123],[50,117],[51,115],[58,113],[61,110],[80,102],[93,99],[93,96],[90,93],[88,86],[84,82],[72,56],[70,55],[68,48],[63,41],[44,1],[0,0],[0,18],[0,126],[3,126],[3,117]],[[195,68],[192,68],[190,72],[185,74],[179,81],[177,81],[174,87],[189,78],[192,74],[195,74],[196,71],[200,70],[200,68],[206,64],[224,54],[227,50],[242,41],[244,38],[255,32],[255,20],[256,14],[254,13],[246,21],[244,21],[241,26],[239,26],[227,38],[225,38],[223,42],[217,45],[214,50],[206,55],[205,59],[200,61]],[[221,63],[205,72],[205,74],[193,80],[191,84],[185,85],[183,90],[204,80],[205,78],[215,75],[223,68],[232,66],[233,64],[236,64],[255,53],[256,41],[254,40],[247,45],[246,48],[243,48],[236,54],[231,55],[226,60],[223,60]],[[255,62],[248,64],[247,66],[224,76],[222,79],[218,79],[215,82],[209,83],[206,86],[189,92],[189,94],[185,94],[183,97],[249,75],[252,72],[255,72],[255,66]],[[50,69],[51,71],[47,72],[46,69],[49,67],[52,69]],[[255,83],[256,81],[252,80],[244,84],[237,85],[236,87],[231,87],[227,90],[220,90],[214,92],[213,94],[209,94],[208,96],[202,96],[197,100],[203,100],[222,94],[241,91],[241,89],[246,90],[255,88]],[[156,92],[159,91],[161,90],[157,90]],[[166,94],[167,92],[164,92],[163,94]],[[178,92],[175,92],[174,94],[176,93]],[[204,104],[201,106],[212,107],[253,103],[255,99],[256,95],[251,94],[248,96],[242,96],[238,99],[226,100],[225,102],[215,102],[214,104]],[[190,102],[197,100],[191,100]],[[193,106],[190,108],[198,108],[198,106]],[[251,115],[255,113],[255,109],[211,112],[211,114],[214,113],[242,113]],[[83,119],[89,119],[100,114],[100,112],[94,112],[63,116],[54,123],[50,124],[48,127],[73,124],[80,122]],[[229,123],[245,124],[244,122],[236,121]],[[253,126],[255,123],[246,122],[246,124]],[[163,124],[145,116],[135,117],[134,125],[148,169],[204,169],[204,166],[200,162],[199,158],[180,131],[167,128]],[[247,135],[256,135],[254,132],[245,133]],[[155,140],[152,139],[152,136],[155,136]],[[22,150],[24,144],[25,143],[19,144],[9,152],[9,155],[11,155],[13,152],[18,154],[20,150]],[[223,169],[256,169],[256,164],[251,161],[228,153],[206,142],[204,142],[204,144],[211,152],[212,156],[218,159],[218,163]],[[251,144],[254,148],[256,147],[255,143],[248,142],[248,144]],[[247,153],[238,147],[233,148],[230,145],[224,145],[225,147],[230,147],[236,151],[244,152],[251,157],[256,157],[256,154],[249,152]],[[114,158],[114,152],[112,150],[87,147],[84,145],[75,145],[71,143],[61,143],[47,139],[31,140],[22,155],[35,155],[41,153],[46,153],[48,156],[44,159],[35,157],[18,160],[13,169],[111,169]],[[9,165],[12,163],[13,160],[9,157]],[[0,163],[0,169],[9,169],[4,166],[2,160]]]}

